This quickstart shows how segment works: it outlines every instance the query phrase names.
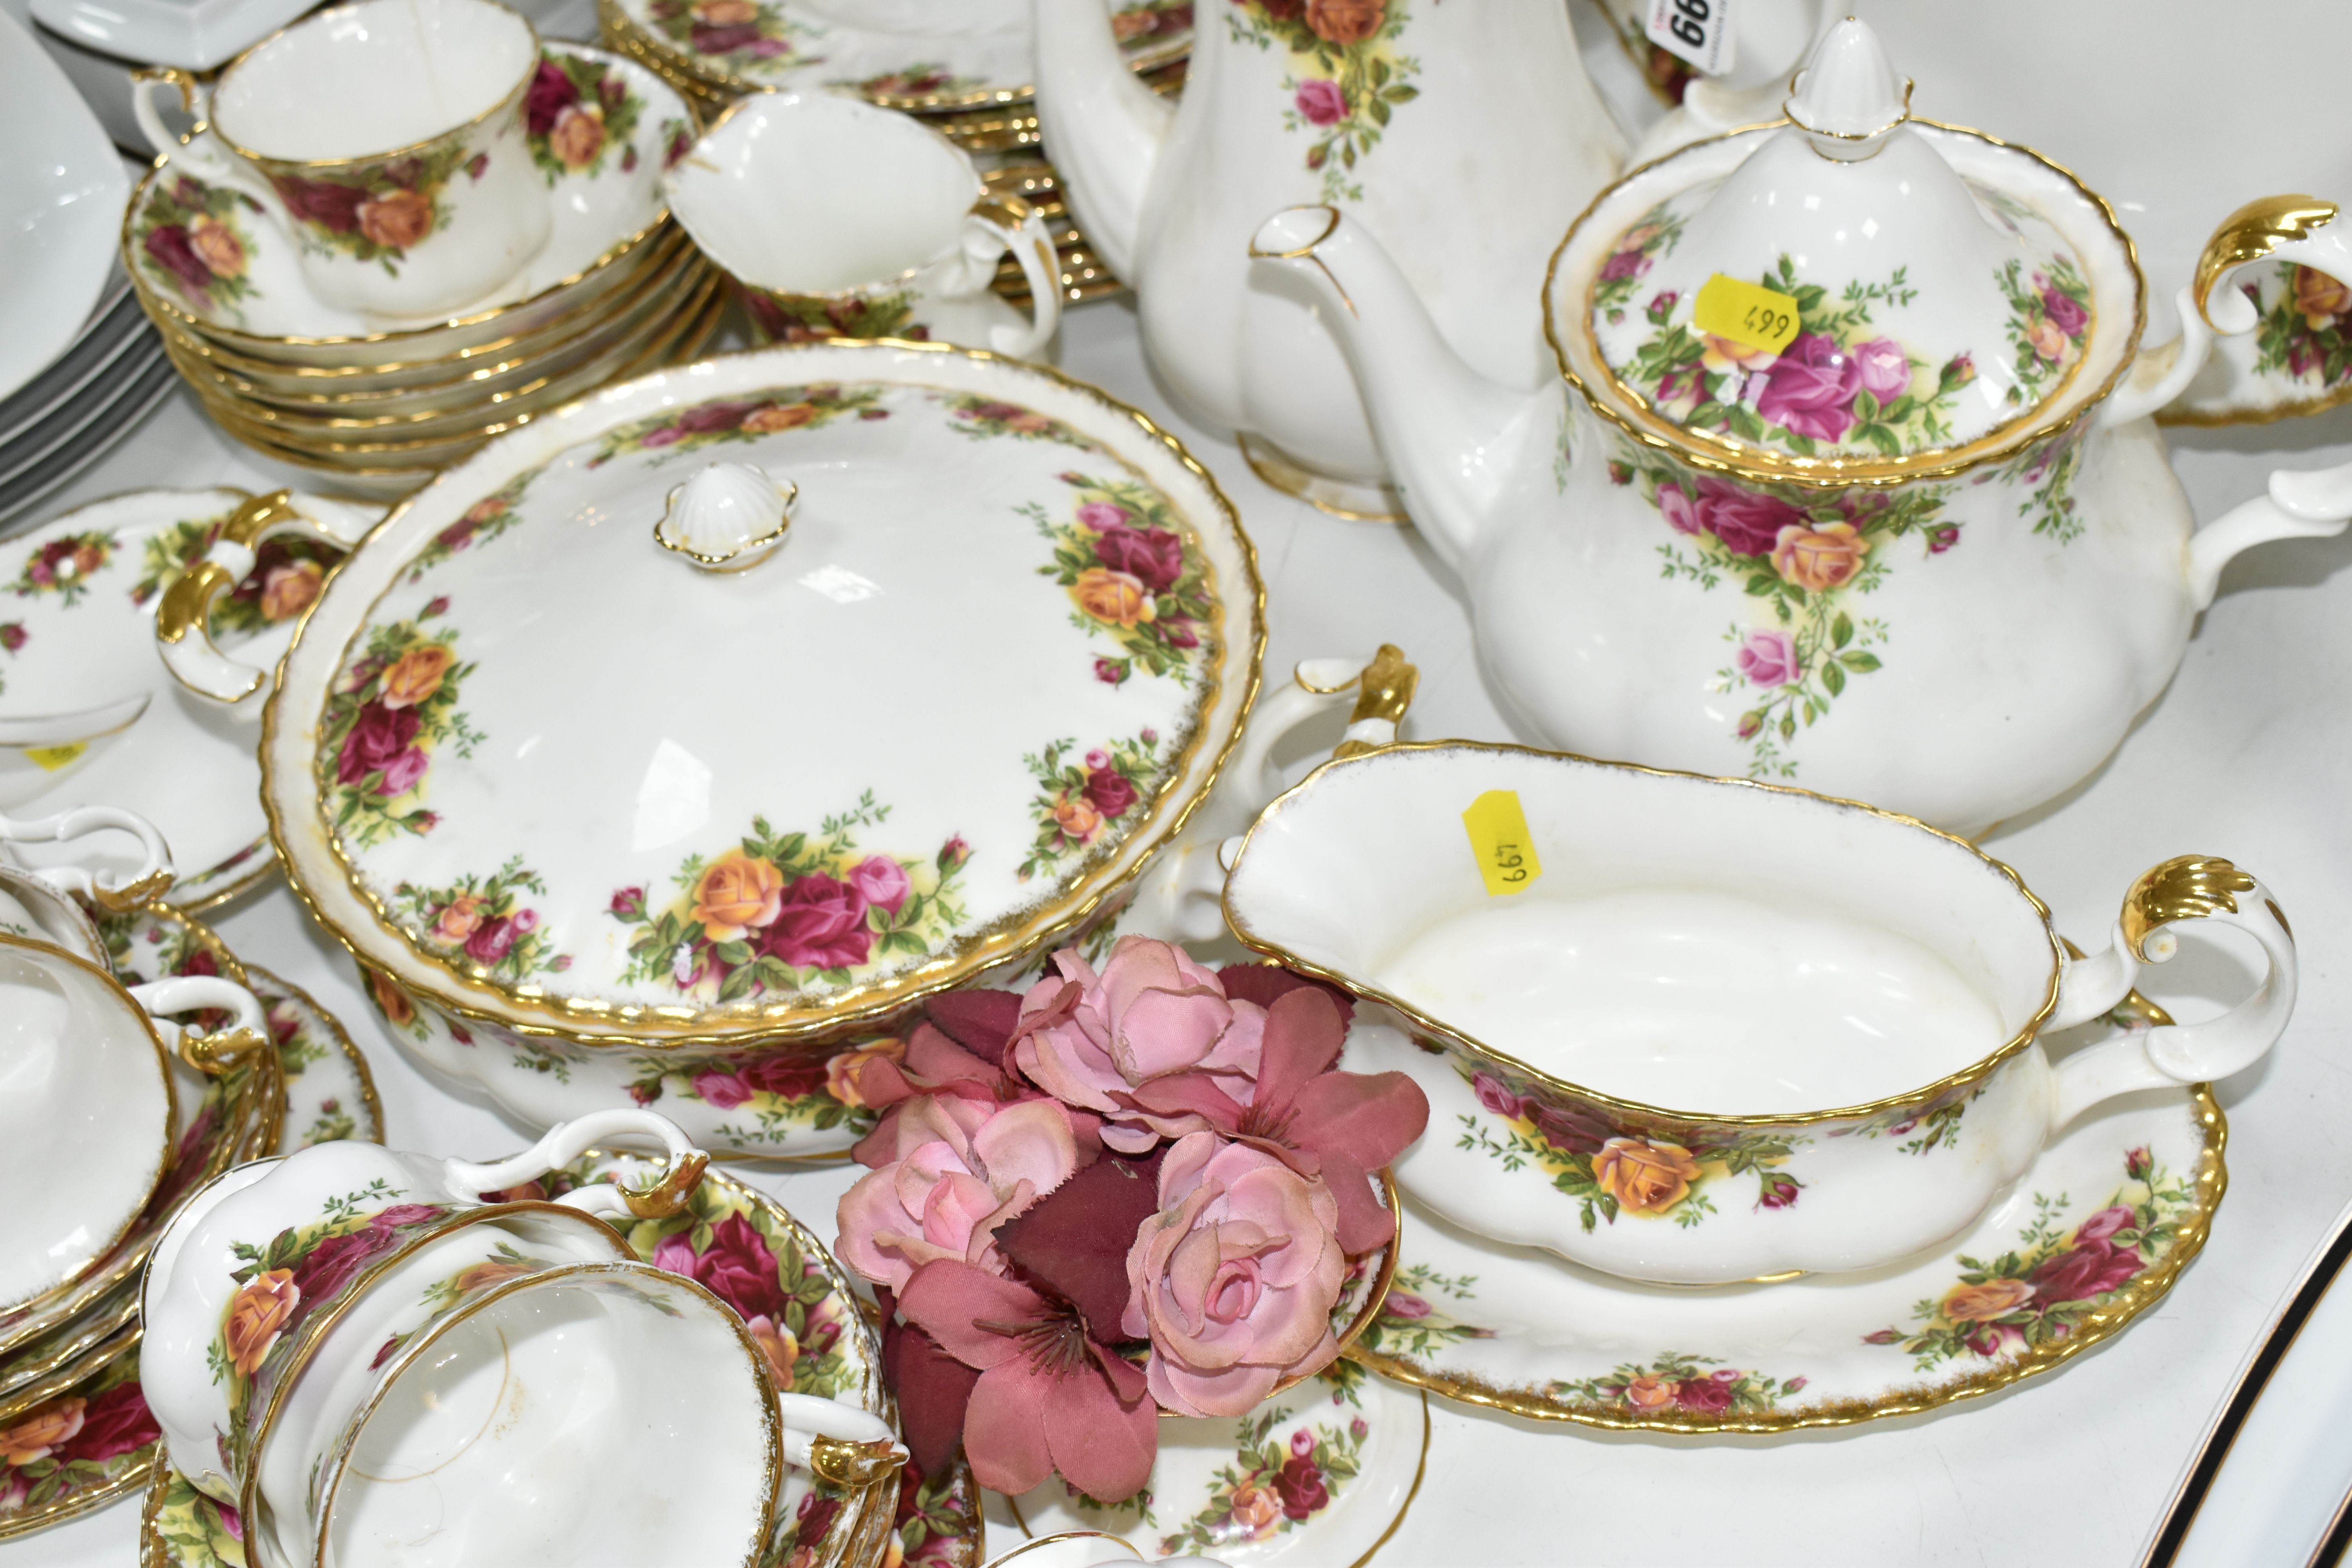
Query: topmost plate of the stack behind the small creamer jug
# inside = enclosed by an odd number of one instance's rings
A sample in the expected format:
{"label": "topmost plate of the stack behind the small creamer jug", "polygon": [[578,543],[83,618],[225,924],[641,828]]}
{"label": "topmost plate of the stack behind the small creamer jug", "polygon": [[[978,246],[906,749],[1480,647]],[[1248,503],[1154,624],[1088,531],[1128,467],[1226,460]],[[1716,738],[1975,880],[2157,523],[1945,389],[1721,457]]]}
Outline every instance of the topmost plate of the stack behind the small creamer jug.
{"label": "topmost plate of the stack behind the small creamer jug", "polygon": [[[924,12],[931,12],[929,16]],[[1035,92],[1023,0],[600,0],[614,47],[706,92],[849,92],[913,113],[1021,103]],[[1120,52],[1152,71],[1192,52],[1192,0],[1105,0]],[[844,16],[858,16],[856,26]]]}

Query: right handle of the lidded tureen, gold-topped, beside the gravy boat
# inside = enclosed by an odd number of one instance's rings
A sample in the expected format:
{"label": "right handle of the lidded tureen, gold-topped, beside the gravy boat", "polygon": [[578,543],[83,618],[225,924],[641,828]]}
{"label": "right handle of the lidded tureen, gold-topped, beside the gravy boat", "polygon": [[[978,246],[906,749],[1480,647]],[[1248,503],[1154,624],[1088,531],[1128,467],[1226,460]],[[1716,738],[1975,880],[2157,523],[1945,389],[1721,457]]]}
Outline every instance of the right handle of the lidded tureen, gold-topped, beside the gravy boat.
{"label": "right handle of the lidded tureen, gold-topped, beside the gravy boat", "polygon": [[1183,839],[1167,849],[1136,891],[1120,931],[1162,940],[1207,943],[1225,933],[1225,870],[1240,849],[1240,832],[1258,820],[1270,799],[1282,795],[1282,771],[1275,745],[1315,715],[1331,712],[1355,696],[1348,729],[1334,757],[1362,757],[1397,743],[1397,722],[1414,705],[1421,670],[1404,663],[1404,649],[1383,642],[1364,658],[1303,658],[1291,684],[1258,701],[1249,729],[1216,792]]}

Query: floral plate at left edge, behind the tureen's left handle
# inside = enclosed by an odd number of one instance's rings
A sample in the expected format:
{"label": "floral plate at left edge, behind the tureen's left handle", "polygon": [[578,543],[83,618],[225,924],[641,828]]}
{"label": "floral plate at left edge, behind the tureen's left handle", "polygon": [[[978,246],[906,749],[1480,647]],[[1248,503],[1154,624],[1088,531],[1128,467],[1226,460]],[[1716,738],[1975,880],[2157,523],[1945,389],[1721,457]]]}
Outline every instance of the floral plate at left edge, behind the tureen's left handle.
{"label": "floral plate at left edge, behind the tureen's left handle", "polygon": [[[174,896],[188,910],[235,898],[278,863],[252,726],[183,691],[155,658],[158,597],[242,501],[235,489],[132,491],[0,545],[0,717],[146,698],[113,733],[0,750],[0,811],[45,816],[103,802],[146,816],[172,846]],[[263,557],[214,616],[214,635],[252,644],[268,663],[341,552],[294,538],[263,543]],[[16,853],[40,865],[59,851]]]}

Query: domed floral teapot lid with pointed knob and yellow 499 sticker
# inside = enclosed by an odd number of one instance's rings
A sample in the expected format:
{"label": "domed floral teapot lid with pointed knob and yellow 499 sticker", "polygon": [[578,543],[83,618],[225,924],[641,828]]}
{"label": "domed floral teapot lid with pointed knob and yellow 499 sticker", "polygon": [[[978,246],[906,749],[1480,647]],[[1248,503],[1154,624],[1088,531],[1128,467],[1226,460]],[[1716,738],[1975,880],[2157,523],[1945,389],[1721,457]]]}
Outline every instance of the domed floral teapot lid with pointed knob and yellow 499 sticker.
{"label": "domed floral teapot lid with pointed knob and yellow 499 sticker", "polygon": [[[2112,327],[2138,334],[2129,240],[2112,214],[2053,216],[2049,195],[2105,212],[2063,169],[1912,120],[1910,87],[1849,16],[1797,73],[1783,125],[1602,193],[1545,301],[1555,346],[1562,322],[1585,331],[1592,364],[1564,348],[1569,376],[1646,440],[1797,480],[1966,463],[2103,395],[2086,367],[2112,378]],[[2072,193],[2037,190],[2046,174]]]}

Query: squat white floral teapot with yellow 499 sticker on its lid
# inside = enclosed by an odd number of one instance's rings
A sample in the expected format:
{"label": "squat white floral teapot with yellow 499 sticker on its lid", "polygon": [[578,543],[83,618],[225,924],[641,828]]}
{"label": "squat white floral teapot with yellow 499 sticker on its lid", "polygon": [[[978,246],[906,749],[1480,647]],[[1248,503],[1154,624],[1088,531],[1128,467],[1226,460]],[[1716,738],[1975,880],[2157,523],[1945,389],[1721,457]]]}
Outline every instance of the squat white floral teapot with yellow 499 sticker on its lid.
{"label": "squat white floral teapot with yellow 499 sticker on its lid", "polygon": [[1456,355],[1336,205],[1251,256],[1324,303],[1531,738],[1976,832],[2100,766],[2239,550],[2352,517],[2352,468],[2274,473],[2199,529],[2150,421],[2256,324],[2241,268],[2352,277],[2352,249],[2326,202],[2253,202],[2143,346],[2107,202],[1912,118],[1865,24],[1785,110],[1595,197],[1536,393]]}

